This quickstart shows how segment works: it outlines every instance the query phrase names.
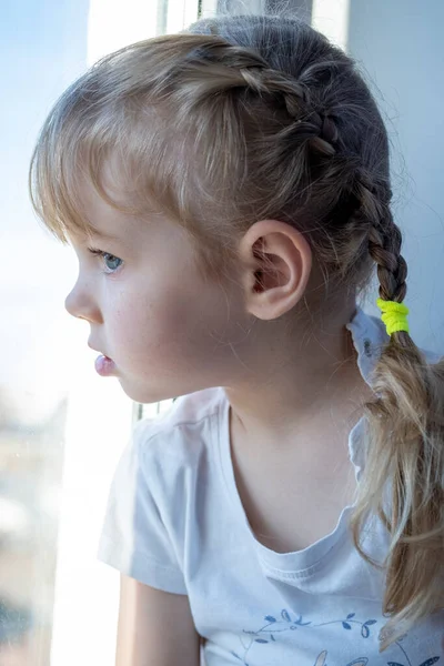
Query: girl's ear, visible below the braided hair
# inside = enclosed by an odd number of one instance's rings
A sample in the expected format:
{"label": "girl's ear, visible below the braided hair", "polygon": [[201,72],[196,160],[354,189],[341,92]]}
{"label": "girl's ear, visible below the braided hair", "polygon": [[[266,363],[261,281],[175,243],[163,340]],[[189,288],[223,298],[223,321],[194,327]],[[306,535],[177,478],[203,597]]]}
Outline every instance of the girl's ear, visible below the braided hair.
{"label": "girl's ear, visible below the braided hair", "polygon": [[285,222],[261,220],[239,245],[246,311],[261,320],[285,314],[304,295],[312,250],[305,236]]}

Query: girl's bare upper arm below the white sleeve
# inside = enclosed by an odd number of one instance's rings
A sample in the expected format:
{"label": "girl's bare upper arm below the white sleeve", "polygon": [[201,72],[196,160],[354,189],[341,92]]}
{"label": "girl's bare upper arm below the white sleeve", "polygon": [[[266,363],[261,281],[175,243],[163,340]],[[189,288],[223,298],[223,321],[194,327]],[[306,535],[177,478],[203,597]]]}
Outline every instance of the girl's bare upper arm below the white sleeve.
{"label": "girl's bare upper arm below the white sleeve", "polygon": [[186,595],[121,574],[115,666],[199,666],[200,636]]}

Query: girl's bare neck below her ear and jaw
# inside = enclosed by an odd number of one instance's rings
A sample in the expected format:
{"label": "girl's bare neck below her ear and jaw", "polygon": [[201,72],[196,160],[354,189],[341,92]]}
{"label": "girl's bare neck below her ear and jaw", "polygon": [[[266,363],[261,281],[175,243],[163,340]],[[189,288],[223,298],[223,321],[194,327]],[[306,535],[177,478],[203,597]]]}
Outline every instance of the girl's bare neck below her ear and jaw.
{"label": "girl's bare neck below her ear and jaw", "polygon": [[232,424],[242,440],[255,448],[293,448],[297,434],[313,438],[320,430],[340,423],[349,427],[357,421],[356,413],[371,390],[361,376],[345,329],[354,313],[355,307],[330,322],[329,329],[301,332],[296,341],[294,332],[273,339],[266,359],[256,353],[255,359],[262,361],[248,364],[252,372],[238,385],[225,387]]}

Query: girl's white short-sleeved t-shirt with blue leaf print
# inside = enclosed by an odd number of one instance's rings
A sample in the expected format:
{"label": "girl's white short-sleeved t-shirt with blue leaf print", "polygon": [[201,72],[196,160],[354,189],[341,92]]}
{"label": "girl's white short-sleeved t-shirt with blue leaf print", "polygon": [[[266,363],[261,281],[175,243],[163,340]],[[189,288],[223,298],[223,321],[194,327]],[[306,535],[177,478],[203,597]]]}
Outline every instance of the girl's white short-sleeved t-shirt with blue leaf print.
{"label": "girl's white short-sleeved t-shirt with blue leaf print", "polygon": [[[347,329],[369,381],[385,327],[357,309]],[[383,574],[353,547],[350,506],[303,551],[276,553],[255,538],[234,481],[229,407],[223,389],[208,389],[135,425],[113,478],[99,559],[186,594],[206,666],[444,666],[444,612],[379,652]],[[357,481],[363,425],[349,442]],[[382,524],[369,523],[364,549],[382,562],[386,544]],[[165,640],[170,632],[167,623]]]}

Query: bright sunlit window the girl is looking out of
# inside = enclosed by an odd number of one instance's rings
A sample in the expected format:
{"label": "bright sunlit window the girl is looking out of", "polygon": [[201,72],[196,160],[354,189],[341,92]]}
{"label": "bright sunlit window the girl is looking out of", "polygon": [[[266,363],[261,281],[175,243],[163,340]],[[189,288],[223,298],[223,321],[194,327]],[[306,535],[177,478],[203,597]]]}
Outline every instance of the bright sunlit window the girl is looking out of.
{"label": "bright sunlit window the girl is looking out of", "polygon": [[[119,576],[95,553],[113,470],[142,416],[117,382],[97,376],[89,325],[64,311],[77,260],[31,211],[31,151],[53,101],[89,64],[125,43],[181,30],[199,8],[211,12],[198,0],[2,7],[2,666],[114,664]],[[144,405],[143,415],[170,402]]]}

